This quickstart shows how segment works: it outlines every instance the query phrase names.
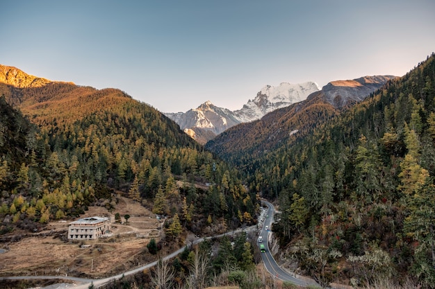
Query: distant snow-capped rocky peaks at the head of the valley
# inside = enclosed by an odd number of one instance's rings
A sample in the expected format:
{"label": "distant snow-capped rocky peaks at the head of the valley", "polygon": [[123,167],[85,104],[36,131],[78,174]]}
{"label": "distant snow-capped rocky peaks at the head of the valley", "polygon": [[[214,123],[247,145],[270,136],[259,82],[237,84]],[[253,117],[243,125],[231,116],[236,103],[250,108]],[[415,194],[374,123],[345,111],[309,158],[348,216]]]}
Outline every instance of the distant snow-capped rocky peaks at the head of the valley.
{"label": "distant snow-capped rocky peaks at the head of the valley", "polygon": [[315,82],[296,85],[283,82],[277,87],[270,85],[263,87],[258,91],[256,98],[249,100],[240,110],[227,110],[207,101],[188,112],[165,113],[165,115],[178,123],[190,137],[204,144],[238,123],[261,119],[265,114],[304,100],[309,94],[318,90]]}

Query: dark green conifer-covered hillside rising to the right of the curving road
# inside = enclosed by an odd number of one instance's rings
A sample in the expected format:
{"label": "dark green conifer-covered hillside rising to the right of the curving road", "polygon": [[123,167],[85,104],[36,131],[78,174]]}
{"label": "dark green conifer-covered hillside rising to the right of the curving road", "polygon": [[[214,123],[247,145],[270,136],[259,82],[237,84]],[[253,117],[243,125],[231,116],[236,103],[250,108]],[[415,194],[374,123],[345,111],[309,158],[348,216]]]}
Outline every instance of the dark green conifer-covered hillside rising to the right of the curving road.
{"label": "dark green conifer-covered hillside rising to the right of the curving road", "polygon": [[[435,284],[435,56],[291,146],[252,187],[281,206],[281,257],[322,285]],[[266,181],[267,180],[267,181]]]}

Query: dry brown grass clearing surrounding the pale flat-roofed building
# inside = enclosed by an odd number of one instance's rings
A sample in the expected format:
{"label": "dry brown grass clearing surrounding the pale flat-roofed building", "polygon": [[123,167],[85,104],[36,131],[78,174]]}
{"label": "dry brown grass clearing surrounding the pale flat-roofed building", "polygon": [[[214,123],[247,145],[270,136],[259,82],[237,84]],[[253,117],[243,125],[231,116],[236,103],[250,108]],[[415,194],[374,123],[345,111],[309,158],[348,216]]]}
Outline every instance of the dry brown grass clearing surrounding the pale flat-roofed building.
{"label": "dry brown grass clearing surrounding the pale flat-roofed building", "polygon": [[[161,221],[155,215],[126,198],[120,198],[113,213],[102,207],[90,207],[81,217],[110,216],[115,213],[131,218],[126,225],[113,224],[110,238],[99,240],[66,240],[68,222],[52,222],[44,232],[22,238],[18,242],[1,244],[6,249],[1,254],[0,275],[58,274],[104,277],[126,268],[139,265],[140,261],[151,260],[144,254],[151,238],[159,240]],[[81,245],[90,247],[81,248]]]}

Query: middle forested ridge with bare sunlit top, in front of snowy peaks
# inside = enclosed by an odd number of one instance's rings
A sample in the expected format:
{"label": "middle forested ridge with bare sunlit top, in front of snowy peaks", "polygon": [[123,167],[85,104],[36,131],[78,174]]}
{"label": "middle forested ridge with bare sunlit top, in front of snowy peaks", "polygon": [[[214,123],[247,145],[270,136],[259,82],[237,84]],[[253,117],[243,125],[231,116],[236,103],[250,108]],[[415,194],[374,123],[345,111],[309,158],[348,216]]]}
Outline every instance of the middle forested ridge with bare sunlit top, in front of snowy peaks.
{"label": "middle forested ridge with bare sunlit top, in front of snowy peaks", "polygon": [[[251,189],[276,198],[282,189],[281,150],[310,135],[315,128],[358,103],[395,76],[365,76],[329,82],[306,100],[275,110],[258,121],[241,123],[206,143],[206,149],[240,168]],[[275,154],[274,151],[278,150]],[[272,156],[272,157],[271,157]],[[274,157],[278,156],[278,157]],[[275,166],[275,164],[279,166]],[[267,165],[265,165],[267,164]]]}

